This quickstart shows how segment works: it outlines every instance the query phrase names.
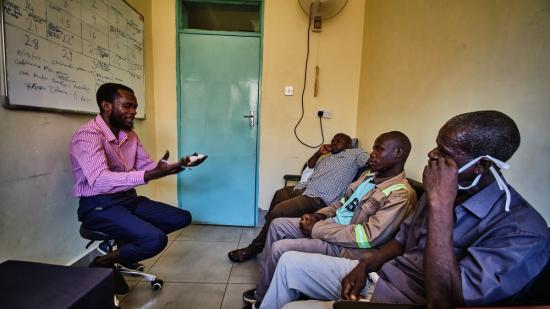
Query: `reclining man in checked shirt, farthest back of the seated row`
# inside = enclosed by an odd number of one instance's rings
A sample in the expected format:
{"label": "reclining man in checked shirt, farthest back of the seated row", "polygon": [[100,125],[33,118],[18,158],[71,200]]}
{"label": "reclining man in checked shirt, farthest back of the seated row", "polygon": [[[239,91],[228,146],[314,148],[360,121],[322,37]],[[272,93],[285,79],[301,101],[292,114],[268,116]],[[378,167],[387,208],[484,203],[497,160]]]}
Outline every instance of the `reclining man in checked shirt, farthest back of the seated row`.
{"label": "reclining man in checked shirt, farthest back of the seated row", "polygon": [[[330,156],[319,159],[329,152],[332,153]],[[322,145],[307,161],[308,168],[314,169],[307,182],[277,190],[258,236],[248,247],[229,252],[229,259],[244,262],[262,252],[273,219],[300,217],[334,203],[351,183],[357,170],[365,165],[367,156],[361,149],[351,149],[349,136],[343,133],[334,135],[330,145]]]}

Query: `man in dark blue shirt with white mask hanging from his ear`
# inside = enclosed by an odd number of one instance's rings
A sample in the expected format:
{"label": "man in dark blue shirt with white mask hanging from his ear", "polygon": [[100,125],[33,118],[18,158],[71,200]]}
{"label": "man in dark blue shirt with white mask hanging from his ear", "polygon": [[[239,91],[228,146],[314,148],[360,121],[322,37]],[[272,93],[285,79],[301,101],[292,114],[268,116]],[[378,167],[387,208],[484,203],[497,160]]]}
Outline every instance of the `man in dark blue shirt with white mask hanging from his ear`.
{"label": "man in dark blue shirt with white mask hanging from his ear", "polygon": [[499,171],[520,144],[516,124],[497,111],[466,113],[449,120],[436,143],[426,193],[395,239],[360,262],[285,253],[261,308],[302,293],[455,308],[505,303],[520,292],[547,263],[550,235]]}

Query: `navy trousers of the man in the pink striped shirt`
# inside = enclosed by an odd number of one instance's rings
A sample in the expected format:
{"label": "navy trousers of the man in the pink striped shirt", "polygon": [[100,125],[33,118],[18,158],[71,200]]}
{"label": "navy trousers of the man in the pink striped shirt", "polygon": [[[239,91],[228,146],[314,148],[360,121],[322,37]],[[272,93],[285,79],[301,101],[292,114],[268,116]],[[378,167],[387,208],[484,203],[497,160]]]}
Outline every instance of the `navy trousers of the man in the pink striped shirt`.
{"label": "navy trousers of the man in the pink striped shirt", "polygon": [[166,234],[189,225],[191,213],[129,190],[81,197],[78,219],[88,229],[123,241],[120,259],[133,263],[161,252],[168,242]]}

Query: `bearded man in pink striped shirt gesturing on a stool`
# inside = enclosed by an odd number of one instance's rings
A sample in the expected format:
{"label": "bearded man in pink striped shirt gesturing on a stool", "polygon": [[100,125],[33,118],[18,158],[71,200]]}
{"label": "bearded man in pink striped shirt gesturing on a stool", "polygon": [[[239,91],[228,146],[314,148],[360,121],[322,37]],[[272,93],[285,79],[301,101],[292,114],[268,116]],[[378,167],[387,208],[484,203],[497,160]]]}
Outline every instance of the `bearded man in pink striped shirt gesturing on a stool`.
{"label": "bearded man in pink striped shirt gesturing on a stool", "polygon": [[[168,152],[153,162],[132,130],[137,101],[132,89],[107,83],[96,94],[100,113],[80,127],[70,143],[73,193],[80,198],[78,219],[92,230],[111,235],[119,248],[99,256],[91,267],[129,265],[155,256],[167,244],[166,234],[191,223],[191,214],[138,196],[134,188],[153,179],[200,164],[189,157],[168,163]],[[115,271],[115,289],[128,286]]]}

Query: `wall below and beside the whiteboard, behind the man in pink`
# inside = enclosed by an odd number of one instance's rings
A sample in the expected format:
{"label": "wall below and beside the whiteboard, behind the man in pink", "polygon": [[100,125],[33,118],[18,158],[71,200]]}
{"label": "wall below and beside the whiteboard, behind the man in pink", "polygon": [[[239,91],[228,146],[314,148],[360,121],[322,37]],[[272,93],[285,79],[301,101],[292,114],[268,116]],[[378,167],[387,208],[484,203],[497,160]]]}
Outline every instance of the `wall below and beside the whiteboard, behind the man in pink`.
{"label": "wall below and beside the whiteboard, behind the man in pink", "polygon": [[[147,120],[136,130],[155,153],[150,1],[128,1],[145,17]],[[85,241],[78,234],[77,199],[68,158],[72,133],[90,115],[7,110],[0,107],[0,262],[7,259],[68,264]],[[141,194],[155,197],[154,185]]]}

